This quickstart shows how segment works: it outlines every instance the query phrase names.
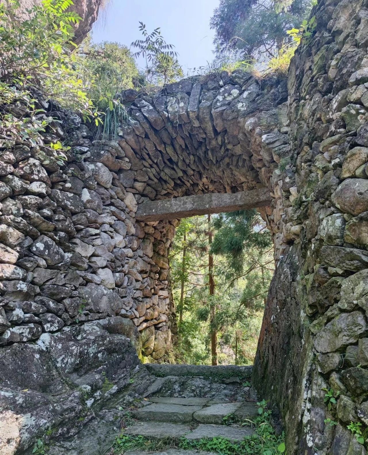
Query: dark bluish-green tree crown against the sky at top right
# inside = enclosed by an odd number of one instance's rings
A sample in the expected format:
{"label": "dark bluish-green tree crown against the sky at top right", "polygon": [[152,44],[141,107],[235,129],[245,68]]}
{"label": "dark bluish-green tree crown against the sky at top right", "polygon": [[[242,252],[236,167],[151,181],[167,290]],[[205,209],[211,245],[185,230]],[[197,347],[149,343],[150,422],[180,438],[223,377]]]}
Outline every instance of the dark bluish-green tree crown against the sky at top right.
{"label": "dark bluish-green tree crown against the sky at top right", "polygon": [[286,31],[298,27],[310,8],[311,0],[220,0],[210,20],[214,44],[219,54],[230,49],[239,58],[269,60],[291,41]]}

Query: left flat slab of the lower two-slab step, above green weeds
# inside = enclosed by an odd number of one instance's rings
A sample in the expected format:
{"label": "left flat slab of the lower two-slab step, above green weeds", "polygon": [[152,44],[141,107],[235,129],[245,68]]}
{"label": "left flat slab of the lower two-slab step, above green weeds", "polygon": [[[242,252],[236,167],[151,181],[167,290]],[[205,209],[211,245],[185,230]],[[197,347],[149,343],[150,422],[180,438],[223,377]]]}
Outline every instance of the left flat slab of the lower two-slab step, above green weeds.
{"label": "left flat slab of the lower two-slab step, above green weeds", "polygon": [[189,425],[168,422],[136,422],[133,426],[124,429],[127,435],[142,435],[153,439],[178,438],[179,440],[189,432]]}

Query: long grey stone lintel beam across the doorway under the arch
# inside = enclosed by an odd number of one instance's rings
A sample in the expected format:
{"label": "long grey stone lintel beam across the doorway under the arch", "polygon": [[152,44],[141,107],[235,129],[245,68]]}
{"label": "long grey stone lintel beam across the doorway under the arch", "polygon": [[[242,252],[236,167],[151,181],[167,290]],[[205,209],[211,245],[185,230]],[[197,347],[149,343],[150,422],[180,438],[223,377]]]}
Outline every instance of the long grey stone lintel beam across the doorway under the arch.
{"label": "long grey stone lintel beam across the doorway under the arch", "polygon": [[272,197],[267,188],[238,193],[197,194],[143,202],[139,204],[135,218],[139,221],[173,220],[194,215],[267,207],[271,201]]}

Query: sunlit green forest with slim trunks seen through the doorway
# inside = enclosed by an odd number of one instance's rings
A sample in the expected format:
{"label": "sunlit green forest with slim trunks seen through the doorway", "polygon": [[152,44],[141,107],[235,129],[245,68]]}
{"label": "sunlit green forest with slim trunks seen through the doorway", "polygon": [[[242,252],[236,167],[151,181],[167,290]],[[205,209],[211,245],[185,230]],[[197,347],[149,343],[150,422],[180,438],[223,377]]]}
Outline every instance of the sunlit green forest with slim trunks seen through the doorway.
{"label": "sunlit green forest with slim trunks seen through the doorway", "polygon": [[169,260],[177,361],[253,364],[274,270],[260,215],[246,210],[183,219]]}

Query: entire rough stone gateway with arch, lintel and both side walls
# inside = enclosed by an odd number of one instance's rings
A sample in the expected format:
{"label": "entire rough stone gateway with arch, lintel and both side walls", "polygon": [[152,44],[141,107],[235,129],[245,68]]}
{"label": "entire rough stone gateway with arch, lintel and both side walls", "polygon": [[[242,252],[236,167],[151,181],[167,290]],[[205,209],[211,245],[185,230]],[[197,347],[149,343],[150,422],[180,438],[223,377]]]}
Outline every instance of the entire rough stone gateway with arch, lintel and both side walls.
{"label": "entire rough stone gateway with arch, lintel and both side walls", "polygon": [[[124,91],[114,141],[40,100],[67,162],[0,139],[2,455],[89,428],[139,359],[174,362],[179,217],[249,201],[276,261],[252,385],[289,455],[366,454],[347,425],[368,426],[368,4],[312,15],[287,80],[223,71]],[[137,394],[158,387],[149,377]]]}

